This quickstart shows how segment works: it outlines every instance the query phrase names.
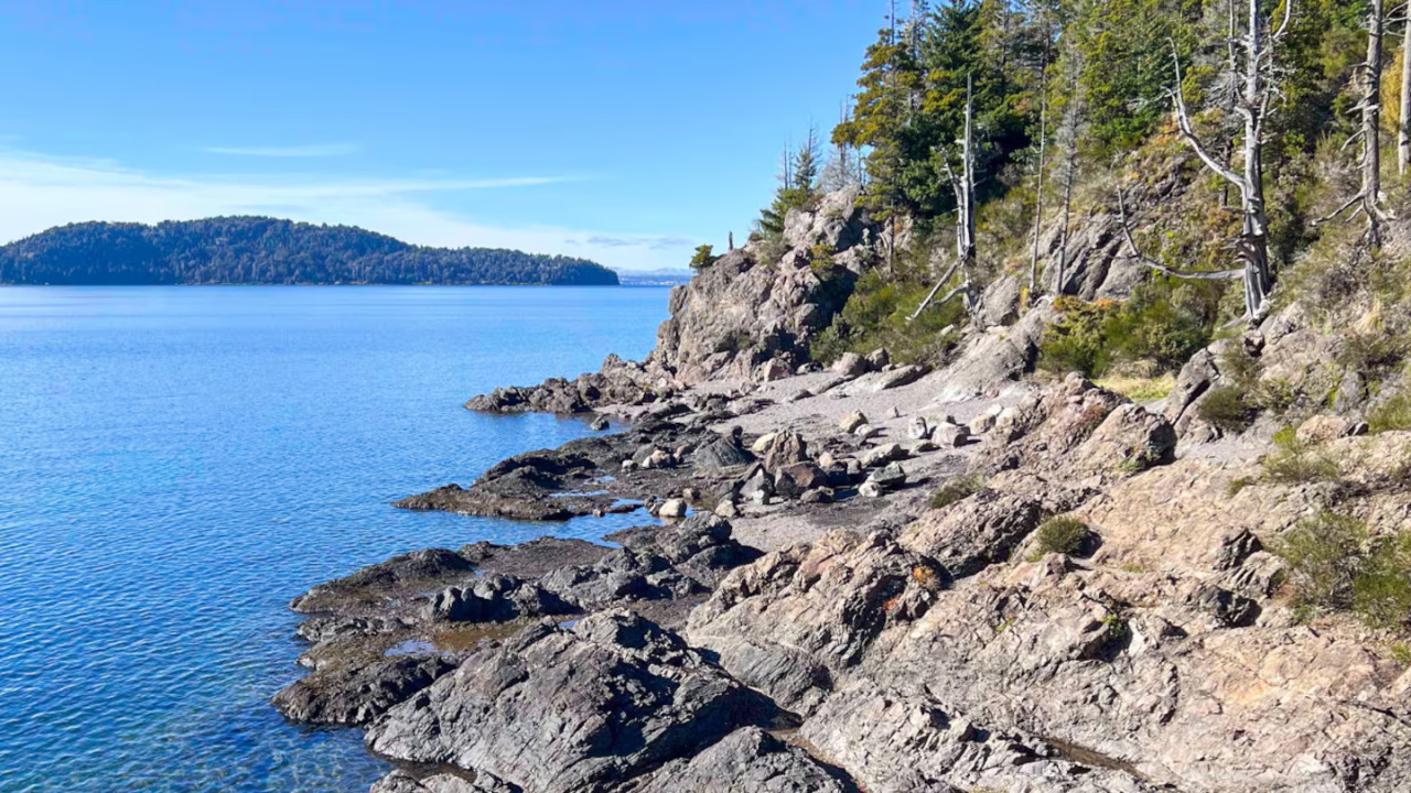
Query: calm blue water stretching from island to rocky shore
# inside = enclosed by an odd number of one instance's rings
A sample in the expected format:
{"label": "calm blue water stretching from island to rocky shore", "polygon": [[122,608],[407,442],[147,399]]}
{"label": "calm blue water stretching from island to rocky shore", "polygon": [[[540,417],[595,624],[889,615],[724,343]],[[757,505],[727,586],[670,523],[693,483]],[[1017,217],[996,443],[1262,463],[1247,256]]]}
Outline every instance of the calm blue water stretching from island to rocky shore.
{"label": "calm blue water stretching from island to rocky shore", "polygon": [[356,731],[267,704],[299,674],[285,604],[553,531],[388,504],[586,435],[460,404],[642,356],[665,315],[655,288],[0,289],[0,792],[365,790]]}

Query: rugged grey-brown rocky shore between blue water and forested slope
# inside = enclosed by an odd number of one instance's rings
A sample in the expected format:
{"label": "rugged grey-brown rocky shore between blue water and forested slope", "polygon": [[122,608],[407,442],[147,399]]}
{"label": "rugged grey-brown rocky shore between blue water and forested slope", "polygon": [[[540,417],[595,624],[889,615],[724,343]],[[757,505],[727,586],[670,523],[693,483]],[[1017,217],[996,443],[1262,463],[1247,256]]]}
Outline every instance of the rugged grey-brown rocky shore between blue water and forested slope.
{"label": "rugged grey-brown rocky shore between blue water and forested slope", "polygon": [[[790,213],[790,251],[864,261],[852,206]],[[837,310],[823,279],[758,257],[674,291],[648,361],[467,405],[631,429],[398,502],[648,525],[320,584],[275,707],[365,730],[380,793],[1411,789],[1411,673],[1353,621],[1295,619],[1266,545],[1319,494],[1199,420],[1213,353],[1137,405],[1029,375],[1053,309],[996,301],[935,371],[823,370],[799,344]],[[1236,343],[1287,374],[1318,339],[1290,310]],[[1314,430],[1367,509],[1411,515],[1386,484],[1411,435]],[[1046,545],[1053,515],[1081,542]]]}

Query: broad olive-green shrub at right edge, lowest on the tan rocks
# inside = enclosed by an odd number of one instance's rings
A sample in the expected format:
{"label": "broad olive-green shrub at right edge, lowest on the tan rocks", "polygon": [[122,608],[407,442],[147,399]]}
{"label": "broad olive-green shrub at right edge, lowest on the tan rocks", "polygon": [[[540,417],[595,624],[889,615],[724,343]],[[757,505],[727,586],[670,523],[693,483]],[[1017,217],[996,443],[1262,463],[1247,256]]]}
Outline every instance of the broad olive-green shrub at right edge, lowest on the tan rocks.
{"label": "broad olive-green shrub at right edge, lowest on the tan rocks", "polygon": [[1411,618],[1411,535],[1373,538],[1362,521],[1324,511],[1276,550],[1288,562],[1304,615],[1350,611],[1376,628]]}

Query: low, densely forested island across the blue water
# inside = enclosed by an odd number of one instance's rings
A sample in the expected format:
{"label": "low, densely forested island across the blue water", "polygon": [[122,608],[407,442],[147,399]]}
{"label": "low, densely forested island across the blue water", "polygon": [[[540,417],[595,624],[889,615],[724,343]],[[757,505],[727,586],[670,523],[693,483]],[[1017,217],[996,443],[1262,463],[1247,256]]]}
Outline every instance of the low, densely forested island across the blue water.
{"label": "low, densely forested island across the blue water", "polygon": [[428,248],[353,226],[210,217],[73,223],[0,247],[0,284],[617,285],[584,260],[502,248]]}

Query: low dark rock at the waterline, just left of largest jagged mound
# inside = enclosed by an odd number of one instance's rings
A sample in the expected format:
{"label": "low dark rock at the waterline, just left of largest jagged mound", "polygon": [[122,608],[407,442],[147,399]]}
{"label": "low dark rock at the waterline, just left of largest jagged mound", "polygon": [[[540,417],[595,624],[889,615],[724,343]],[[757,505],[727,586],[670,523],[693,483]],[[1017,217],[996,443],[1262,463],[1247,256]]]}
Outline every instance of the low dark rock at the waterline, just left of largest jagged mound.
{"label": "low dark rock at the waterline, just left of largest jagged mound", "polygon": [[286,686],[274,696],[274,707],[303,724],[361,727],[454,667],[439,655],[394,655],[330,666]]}

